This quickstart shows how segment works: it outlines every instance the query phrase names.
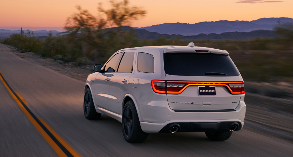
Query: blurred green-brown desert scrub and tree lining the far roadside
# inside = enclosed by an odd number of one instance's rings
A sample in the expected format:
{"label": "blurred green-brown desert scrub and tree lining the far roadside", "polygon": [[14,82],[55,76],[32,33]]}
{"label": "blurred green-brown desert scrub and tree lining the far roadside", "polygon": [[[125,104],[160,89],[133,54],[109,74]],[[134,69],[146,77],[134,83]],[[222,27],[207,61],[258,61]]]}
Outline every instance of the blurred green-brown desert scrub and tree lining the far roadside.
{"label": "blurred green-brown desert scrub and tree lining the far roadside", "polygon": [[[99,16],[76,6],[77,13],[65,23],[66,35],[37,39],[33,32],[13,34],[1,43],[14,46],[21,52],[33,52],[75,66],[89,61],[104,64],[117,50],[139,46],[183,45],[193,42],[195,46],[228,50],[241,72],[243,79],[251,81],[293,82],[293,25],[275,27],[279,35],[275,39],[251,40],[180,40],[161,37],[155,40],[139,40],[134,32],[122,31],[146,11],[131,6],[127,0],[110,1],[111,8],[99,4]],[[111,29],[111,27],[115,27]],[[280,80],[282,79],[282,80]]]}

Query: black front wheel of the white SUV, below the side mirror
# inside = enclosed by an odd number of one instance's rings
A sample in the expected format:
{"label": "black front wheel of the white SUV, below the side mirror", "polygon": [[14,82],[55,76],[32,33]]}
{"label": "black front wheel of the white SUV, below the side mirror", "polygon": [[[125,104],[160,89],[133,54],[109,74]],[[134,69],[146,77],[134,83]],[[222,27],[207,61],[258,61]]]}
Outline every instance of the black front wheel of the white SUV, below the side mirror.
{"label": "black front wheel of the white SUV, below the side mirror", "polygon": [[95,105],[93,104],[90,88],[86,89],[84,93],[84,116],[86,119],[100,119],[101,117],[101,114],[96,111]]}

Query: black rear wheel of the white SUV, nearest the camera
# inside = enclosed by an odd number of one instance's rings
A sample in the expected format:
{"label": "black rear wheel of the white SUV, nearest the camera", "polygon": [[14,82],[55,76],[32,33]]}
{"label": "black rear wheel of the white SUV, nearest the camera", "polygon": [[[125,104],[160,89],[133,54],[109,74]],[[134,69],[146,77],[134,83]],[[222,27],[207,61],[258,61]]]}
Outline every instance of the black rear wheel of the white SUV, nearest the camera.
{"label": "black rear wheel of the white SUV, nearest the camera", "polygon": [[137,111],[132,100],[126,102],[122,114],[122,133],[129,143],[141,143],[147,139],[148,133],[140,127]]}

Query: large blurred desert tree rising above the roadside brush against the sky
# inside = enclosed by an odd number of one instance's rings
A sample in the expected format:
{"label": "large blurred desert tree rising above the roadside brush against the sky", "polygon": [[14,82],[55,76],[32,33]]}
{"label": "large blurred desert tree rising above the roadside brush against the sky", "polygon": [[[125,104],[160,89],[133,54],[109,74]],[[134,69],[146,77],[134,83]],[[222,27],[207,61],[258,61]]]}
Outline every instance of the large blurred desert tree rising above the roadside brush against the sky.
{"label": "large blurred desert tree rising above the roadside brush against the sky", "polygon": [[132,20],[137,20],[138,17],[146,14],[146,11],[136,6],[129,6],[127,0],[120,2],[112,0],[110,4],[111,8],[108,10],[103,9],[102,4],[99,4],[100,14],[97,17],[81,6],[76,6],[78,13],[72,14],[65,23],[65,29],[69,32],[67,38],[69,42],[81,43],[83,54],[93,56],[97,62],[103,60],[109,51],[115,51],[115,46],[126,45],[129,38],[135,37],[135,34],[125,33],[121,28],[105,28],[128,25]]}

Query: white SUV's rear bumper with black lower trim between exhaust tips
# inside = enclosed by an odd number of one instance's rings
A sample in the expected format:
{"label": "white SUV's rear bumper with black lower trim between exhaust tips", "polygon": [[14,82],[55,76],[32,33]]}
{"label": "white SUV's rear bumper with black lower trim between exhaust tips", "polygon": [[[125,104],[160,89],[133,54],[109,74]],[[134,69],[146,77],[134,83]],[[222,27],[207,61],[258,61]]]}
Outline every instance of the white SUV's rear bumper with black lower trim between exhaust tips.
{"label": "white SUV's rear bumper with black lower trim between exhaust tips", "polygon": [[[158,115],[168,119],[164,123],[153,123],[141,121],[140,126],[146,133],[169,132],[170,125],[177,123],[180,125],[178,131],[181,132],[212,132],[212,131],[229,131],[232,123],[238,123],[236,130],[241,130],[244,125],[246,113],[246,104],[240,101],[235,111],[229,112],[175,112],[170,110],[166,113],[161,112]],[[166,114],[166,116],[163,116]],[[229,124],[229,125],[228,125]],[[227,127],[227,126],[229,127]],[[181,129],[182,128],[182,129]],[[166,131],[167,130],[167,131]]]}

